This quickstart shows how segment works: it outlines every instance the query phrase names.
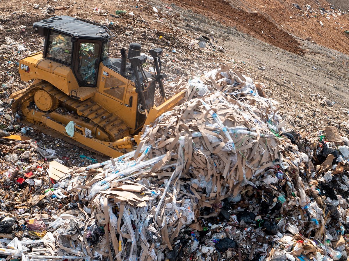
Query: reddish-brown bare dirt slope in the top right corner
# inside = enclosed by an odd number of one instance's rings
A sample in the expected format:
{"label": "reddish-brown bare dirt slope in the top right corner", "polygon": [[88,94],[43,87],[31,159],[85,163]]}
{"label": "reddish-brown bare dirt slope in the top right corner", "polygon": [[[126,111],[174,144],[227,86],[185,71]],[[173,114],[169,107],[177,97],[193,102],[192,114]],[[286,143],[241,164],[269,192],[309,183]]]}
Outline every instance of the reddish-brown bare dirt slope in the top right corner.
{"label": "reddish-brown bare dirt slope in the top right corner", "polygon": [[[290,34],[303,39],[311,37],[318,44],[349,53],[349,41],[344,34],[344,30],[349,30],[349,15],[330,9],[323,0],[297,1],[301,10],[292,5],[293,0],[168,1],[294,53],[302,50]],[[308,10],[306,5],[311,8]]]}

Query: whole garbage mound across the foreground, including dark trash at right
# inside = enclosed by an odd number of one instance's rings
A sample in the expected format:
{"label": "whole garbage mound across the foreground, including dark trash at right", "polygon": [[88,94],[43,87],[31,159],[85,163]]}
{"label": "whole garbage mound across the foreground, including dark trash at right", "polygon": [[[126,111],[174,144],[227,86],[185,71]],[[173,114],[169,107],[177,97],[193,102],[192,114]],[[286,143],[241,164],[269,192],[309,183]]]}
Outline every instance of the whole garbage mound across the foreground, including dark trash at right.
{"label": "whole garbage mound across the foreground, including dark trash at right", "polygon": [[348,139],[334,127],[311,138],[286,133],[277,103],[234,69],[170,85],[184,100],[143,128],[135,151],[80,168],[52,161],[50,180],[44,171],[21,171],[20,184],[3,174],[3,187],[20,191],[12,200],[25,194],[37,211],[1,204],[0,255],[347,258]]}

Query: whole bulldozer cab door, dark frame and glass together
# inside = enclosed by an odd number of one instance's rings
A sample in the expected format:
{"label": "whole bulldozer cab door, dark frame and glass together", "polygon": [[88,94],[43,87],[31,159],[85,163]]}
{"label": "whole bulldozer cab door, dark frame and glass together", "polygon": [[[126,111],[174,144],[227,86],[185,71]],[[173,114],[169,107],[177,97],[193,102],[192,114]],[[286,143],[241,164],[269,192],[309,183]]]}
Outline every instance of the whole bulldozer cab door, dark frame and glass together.
{"label": "whole bulldozer cab door, dark frame and glass together", "polygon": [[79,85],[96,87],[102,42],[79,39],[75,46],[74,73]]}

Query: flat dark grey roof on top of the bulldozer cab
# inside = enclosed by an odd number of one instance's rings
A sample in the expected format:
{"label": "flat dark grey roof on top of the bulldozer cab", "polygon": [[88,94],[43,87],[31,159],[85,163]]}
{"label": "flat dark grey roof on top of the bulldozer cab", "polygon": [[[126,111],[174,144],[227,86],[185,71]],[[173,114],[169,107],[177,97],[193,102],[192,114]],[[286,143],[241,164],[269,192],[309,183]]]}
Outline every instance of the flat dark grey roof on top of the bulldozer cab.
{"label": "flat dark grey roof on top of the bulldozer cab", "polygon": [[53,29],[78,38],[108,39],[114,36],[104,25],[66,15],[35,22],[33,27],[39,34],[47,29]]}

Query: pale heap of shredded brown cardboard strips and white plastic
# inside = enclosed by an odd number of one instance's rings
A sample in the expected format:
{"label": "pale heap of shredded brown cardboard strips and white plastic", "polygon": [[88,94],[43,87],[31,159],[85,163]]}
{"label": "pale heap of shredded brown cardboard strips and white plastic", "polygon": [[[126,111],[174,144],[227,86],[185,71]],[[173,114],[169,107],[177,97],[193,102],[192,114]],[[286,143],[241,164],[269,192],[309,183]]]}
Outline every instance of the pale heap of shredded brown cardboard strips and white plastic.
{"label": "pale heap of shredded brown cardboard strips and white plastic", "polygon": [[[294,149],[273,134],[284,125],[276,104],[243,74],[220,68],[172,87],[186,98],[143,128],[136,152],[73,171],[50,165],[53,179],[72,175],[68,197],[84,204],[58,215],[60,256],[161,260],[201,207],[255,187],[280,151]],[[78,236],[63,232],[72,222]]]}

